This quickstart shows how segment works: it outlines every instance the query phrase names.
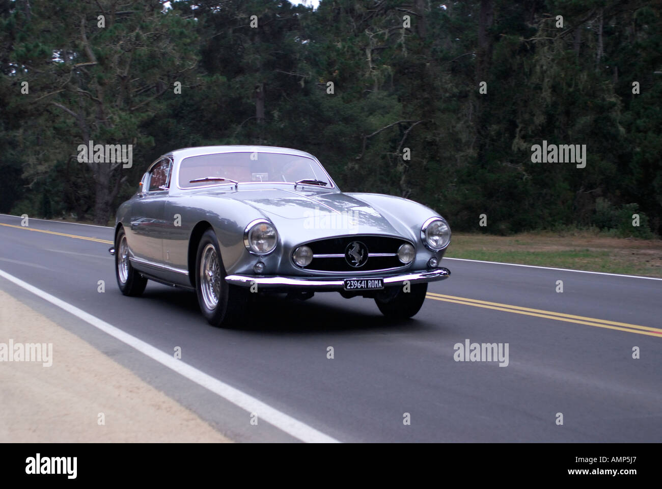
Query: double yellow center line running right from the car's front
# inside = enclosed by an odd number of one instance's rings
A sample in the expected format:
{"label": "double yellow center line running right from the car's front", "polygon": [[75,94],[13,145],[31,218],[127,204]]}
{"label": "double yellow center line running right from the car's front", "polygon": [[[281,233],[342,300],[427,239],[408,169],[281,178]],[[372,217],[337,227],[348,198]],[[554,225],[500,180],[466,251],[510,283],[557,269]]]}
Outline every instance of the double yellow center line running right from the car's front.
{"label": "double yellow center line running right from the car's front", "polygon": [[436,301],[473,305],[475,307],[484,307],[485,309],[495,309],[496,311],[544,317],[545,319],[555,319],[556,321],[565,321],[567,323],[585,324],[598,328],[617,329],[618,331],[627,331],[628,333],[637,333],[639,335],[649,335],[662,338],[662,329],[649,326],[618,323],[617,321],[607,321],[606,319],[596,319],[594,317],[557,313],[554,311],[545,311],[544,309],[532,309],[531,307],[520,307],[519,305],[502,304],[500,302],[489,302],[481,301],[479,299],[467,299],[465,297],[446,296],[444,294],[435,294],[434,292],[428,292],[427,298],[434,299]]}

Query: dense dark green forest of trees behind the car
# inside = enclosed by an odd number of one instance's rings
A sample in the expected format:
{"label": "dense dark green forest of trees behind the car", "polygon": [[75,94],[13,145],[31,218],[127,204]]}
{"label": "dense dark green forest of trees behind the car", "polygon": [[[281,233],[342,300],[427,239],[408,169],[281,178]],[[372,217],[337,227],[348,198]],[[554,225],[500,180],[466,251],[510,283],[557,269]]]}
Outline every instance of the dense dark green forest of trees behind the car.
{"label": "dense dark green forest of trees behind the car", "polygon": [[[0,212],[106,224],[164,152],[267,144],[456,230],[660,235],[661,7],[0,0]],[[534,156],[561,144],[584,161]]]}

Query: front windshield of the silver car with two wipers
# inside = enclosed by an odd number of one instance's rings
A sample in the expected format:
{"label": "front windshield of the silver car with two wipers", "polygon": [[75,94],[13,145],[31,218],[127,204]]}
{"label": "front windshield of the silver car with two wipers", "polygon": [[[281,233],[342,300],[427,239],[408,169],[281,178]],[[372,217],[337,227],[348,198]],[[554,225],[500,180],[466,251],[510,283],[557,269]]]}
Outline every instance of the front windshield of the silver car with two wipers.
{"label": "front windshield of the silver car with two wipers", "polygon": [[[222,179],[228,180],[223,182]],[[267,152],[201,154],[179,165],[179,187],[196,188],[224,183],[291,183],[322,180],[322,166],[305,156]],[[330,185],[329,185],[330,186]]]}

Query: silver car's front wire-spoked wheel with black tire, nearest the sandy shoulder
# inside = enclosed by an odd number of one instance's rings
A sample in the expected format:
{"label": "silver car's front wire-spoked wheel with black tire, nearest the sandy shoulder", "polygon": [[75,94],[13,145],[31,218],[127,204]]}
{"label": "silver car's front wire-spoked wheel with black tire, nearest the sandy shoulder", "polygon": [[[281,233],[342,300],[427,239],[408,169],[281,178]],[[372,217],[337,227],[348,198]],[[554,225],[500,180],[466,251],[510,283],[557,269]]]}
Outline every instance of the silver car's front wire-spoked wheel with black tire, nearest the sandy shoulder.
{"label": "silver car's front wire-spoked wheel with black tire, nearest the sandy shoulder", "polygon": [[[209,268],[214,262],[211,250],[216,256],[216,268],[213,269]],[[209,272],[212,272],[211,276]],[[193,273],[200,311],[209,324],[215,327],[239,325],[242,319],[246,319],[248,289],[225,281],[227,274],[220,256],[218,239],[212,229],[207,229],[200,239]]]}

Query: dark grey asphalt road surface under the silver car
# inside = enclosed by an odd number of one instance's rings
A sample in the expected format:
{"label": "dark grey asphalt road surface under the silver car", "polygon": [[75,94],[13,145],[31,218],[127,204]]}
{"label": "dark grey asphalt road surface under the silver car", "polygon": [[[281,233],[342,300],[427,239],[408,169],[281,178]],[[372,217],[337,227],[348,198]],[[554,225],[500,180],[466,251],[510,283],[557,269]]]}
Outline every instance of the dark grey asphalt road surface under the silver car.
{"label": "dark grey asphalt road surface under the silver car", "polygon": [[[245,327],[216,329],[191,292],[149,282],[142,298],[122,296],[112,239],[111,228],[0,215],[0,270],[168,355],[181,347],[181,362],[338,441],[662,441],[662,280],[444,259],[451,278],[430,284],[408,321],[328,293],[262,299]],[[0,289],[230,438],[297,441],[1,276]],[[507,343],[508,365],[456,362],[466,339]]]}

